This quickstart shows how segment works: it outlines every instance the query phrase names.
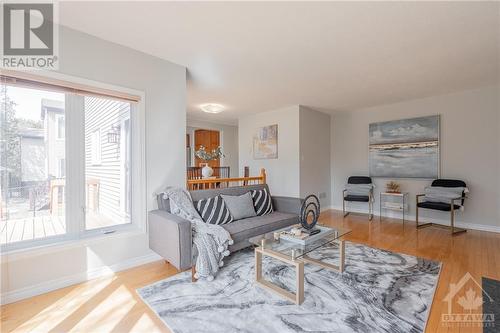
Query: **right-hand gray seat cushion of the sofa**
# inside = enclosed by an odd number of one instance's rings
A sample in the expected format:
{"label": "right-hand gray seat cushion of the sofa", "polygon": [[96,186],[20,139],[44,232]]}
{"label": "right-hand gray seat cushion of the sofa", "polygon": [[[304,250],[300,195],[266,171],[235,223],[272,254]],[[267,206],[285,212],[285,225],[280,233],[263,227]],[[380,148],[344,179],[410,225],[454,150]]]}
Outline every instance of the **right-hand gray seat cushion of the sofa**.
{"label": "right-hand gray seat cushion of the sofa", "polygon": [[250,217],[223,225],[233,238],[235,244],[245,241],[250,237],[272,232],[293,224],[299,223],[295,214],[273,212],[263,216]]}

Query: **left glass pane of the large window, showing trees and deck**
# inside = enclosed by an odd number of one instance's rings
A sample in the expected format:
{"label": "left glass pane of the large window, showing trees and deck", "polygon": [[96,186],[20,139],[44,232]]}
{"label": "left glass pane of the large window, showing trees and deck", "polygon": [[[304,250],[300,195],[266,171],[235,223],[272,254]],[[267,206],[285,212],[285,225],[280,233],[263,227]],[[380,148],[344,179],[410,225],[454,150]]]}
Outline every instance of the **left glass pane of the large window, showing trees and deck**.
{"label": "left glass pane of the large window, showing trees and deck", "polygon": [[0,243],[65,234],[65,96],[2,85],[0,98]]}

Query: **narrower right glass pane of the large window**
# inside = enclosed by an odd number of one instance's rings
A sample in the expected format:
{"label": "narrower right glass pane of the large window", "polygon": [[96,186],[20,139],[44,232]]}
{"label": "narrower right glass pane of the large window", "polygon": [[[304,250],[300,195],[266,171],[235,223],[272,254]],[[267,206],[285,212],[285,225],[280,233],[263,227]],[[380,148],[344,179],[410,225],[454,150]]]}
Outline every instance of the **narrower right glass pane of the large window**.
{"label": "narrower right glass pane of the large window", "polygon": [[130,222],[130,103],[85,97],[85,227]]}

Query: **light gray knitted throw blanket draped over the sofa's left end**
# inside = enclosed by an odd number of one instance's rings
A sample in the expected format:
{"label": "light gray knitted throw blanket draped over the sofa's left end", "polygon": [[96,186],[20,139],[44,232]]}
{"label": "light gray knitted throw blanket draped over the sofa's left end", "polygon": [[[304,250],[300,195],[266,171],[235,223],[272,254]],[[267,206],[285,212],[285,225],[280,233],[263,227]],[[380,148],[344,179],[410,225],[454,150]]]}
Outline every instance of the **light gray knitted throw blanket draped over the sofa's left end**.
{"label": "light gray knitted throw blanket draped over the sofa's left end", "polygon": [[214,279],[224,257],[229,255],[228,246],[233,244],[229,232],[219,225],[205,223],[193,205],[191,195],[178,187],[167,187],[163,198],[170,200],[170,211],[191,222],[193,243],[198,250],[195,278]]}

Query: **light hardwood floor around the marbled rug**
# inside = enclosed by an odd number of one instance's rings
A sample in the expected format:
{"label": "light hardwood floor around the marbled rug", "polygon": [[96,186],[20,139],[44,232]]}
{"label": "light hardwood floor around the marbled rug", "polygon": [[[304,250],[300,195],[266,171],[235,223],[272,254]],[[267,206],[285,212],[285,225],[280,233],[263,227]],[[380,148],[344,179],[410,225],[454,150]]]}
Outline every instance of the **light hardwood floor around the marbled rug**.
{"label": "light hardwood floor around the marbled rug", "polygon": [[[417,231],[413,222],[350,215],[328,211],[321,221],[353,230],[346,240],[393,252],[406,253],[443,263],[426,332],[481,332],[479,328],[445,327],[441,314],[450,283],[466,272],[480,281],[482,276],[500,280],[500,234],[468,231],[450,236],[446,229],[430,227]],[[346,258],[349,264],[349,257]],[[168,332],[135,290],[177,271],[165,262],[135,267],[110,278],[56,290],[1,307],[1,332]]]}

